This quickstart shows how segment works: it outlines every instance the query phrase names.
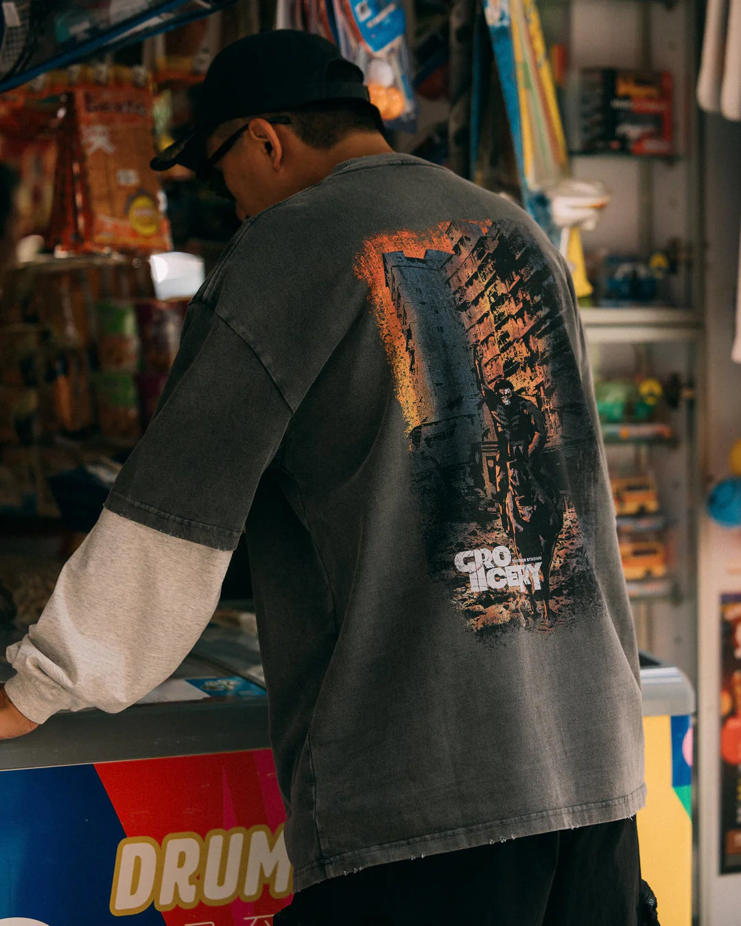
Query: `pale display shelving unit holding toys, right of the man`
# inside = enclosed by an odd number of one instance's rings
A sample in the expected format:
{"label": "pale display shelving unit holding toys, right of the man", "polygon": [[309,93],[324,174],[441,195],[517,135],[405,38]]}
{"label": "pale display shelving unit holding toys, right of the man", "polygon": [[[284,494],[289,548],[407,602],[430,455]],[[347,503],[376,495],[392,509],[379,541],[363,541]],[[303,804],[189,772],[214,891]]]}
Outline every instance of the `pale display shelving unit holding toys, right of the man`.
{"label": "pale display shelving unit holding toys, right of the man", "polygon": [[[651,377],[679,383],[674,401],[662,401],[654,433],[621,422],[605,424],[611,475],[651,472],[660,511],[622,517],[619,531],[657,537],[665,545],[665,576],[628,582],[639,647],[679,666],[697,682],[697,511],[701,508],[699,434],[695,407],[702,383],[703,312],[697,255],[697,122],[687,106],[688,72],[694,71],[694,0],[658,4],[649,0],[543,0],[551,44],[568,48],[565,89],[567,135],[578,104],[574,75],[581,69],[655,69],[673,75],[673,150],[670,155],[571,151],[573,176],[603,181],[612,194],[594,232],[584,232],[587,252],[678,255],[661,285],[662,304],[583,307],[581,317],[597,378]],[[571,95],[570,95],[571,94]],[[672,405],[674,407],[672,407]],[[631,430],[632,427],[632,430]]]}

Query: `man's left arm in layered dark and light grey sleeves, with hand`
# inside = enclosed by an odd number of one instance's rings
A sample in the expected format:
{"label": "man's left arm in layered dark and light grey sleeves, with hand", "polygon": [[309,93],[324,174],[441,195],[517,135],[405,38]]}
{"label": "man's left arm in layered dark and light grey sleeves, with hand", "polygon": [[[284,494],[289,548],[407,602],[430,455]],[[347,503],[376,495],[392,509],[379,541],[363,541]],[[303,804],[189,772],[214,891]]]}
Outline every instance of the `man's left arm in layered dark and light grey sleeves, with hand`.
{"label": "man's left arm in layered dark and light grey sleeves, with hand", "polygon": [[[31,724],[119,711],[177,669],[218,603],[262,473],[291,409],[251,345],[207,306],[94,530],[7,657],[6,695]],[[0,736],[19,735],[6,708]]]}

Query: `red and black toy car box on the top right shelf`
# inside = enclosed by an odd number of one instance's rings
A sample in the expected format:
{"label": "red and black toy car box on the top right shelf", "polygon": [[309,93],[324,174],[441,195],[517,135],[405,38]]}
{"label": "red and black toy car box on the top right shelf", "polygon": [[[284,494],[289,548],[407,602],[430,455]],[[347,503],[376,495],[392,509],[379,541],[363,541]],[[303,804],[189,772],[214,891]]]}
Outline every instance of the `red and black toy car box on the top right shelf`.
{"label": "red and black toy car box on the top right shelf", "polygon": [[582,151],[671,155],[672,74],[666,70],[583,70],[579,144]]}

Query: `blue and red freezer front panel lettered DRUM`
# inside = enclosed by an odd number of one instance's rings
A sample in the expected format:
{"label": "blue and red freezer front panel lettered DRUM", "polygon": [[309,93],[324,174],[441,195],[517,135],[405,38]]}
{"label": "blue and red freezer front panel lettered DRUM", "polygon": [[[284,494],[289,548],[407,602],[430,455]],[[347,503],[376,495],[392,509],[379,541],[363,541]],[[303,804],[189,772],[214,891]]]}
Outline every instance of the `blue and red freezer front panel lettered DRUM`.
{"label": "blue and red freezer front panel lettered DRUM", "polygon": [[0,926],[267,926],[290,900],[269,749],[0,772]]}

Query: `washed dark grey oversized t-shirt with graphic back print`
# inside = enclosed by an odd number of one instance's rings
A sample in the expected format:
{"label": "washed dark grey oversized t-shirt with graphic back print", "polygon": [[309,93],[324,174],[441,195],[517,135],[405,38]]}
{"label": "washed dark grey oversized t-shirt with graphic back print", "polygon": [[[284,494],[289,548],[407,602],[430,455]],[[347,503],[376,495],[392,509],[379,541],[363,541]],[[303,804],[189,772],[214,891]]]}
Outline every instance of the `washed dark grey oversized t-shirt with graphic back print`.
{"label": "washed dark grey oversized t-shirt with graphic back print", "polygon": [[246,519],[296,888],[643,805],[584,334],[501,196],[371,156],[245,222],[107,508]]}

